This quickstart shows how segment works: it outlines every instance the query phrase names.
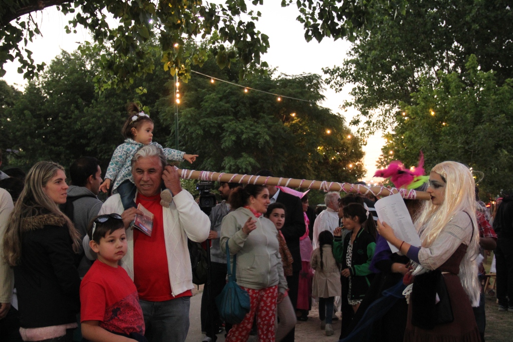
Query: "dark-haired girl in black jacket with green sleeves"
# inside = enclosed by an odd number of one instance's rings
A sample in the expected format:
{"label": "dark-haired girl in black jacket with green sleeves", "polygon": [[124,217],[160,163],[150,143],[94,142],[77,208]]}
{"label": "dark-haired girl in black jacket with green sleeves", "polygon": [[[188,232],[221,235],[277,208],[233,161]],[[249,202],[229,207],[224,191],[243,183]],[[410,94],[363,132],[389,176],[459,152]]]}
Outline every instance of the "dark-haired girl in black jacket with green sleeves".
{"label": "dark-haired girl in black jacket with green sleeves", "polygon": [[358,203],[344,207],[342,224],[350,233],[342,242],[341,229],[335,230],[333,255],[342,264],[342,296],[347,296],[356,312],[372,277],[369,266],[376,248],[376,227],[369,211]]}

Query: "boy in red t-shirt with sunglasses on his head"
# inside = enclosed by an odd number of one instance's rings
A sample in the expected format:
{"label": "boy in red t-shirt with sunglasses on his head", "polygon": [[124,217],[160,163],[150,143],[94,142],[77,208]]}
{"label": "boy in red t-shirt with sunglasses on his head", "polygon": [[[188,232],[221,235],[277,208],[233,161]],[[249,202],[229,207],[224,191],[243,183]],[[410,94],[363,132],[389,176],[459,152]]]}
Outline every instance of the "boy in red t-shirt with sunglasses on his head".
{"label": "boy in red t-shirt with sunglasses on his head", "polygon": [[83,337],[92,342],[147,342],[137,289],[117,265],[127,252],[121,216],[97,216],[88,235],[97,260],[80,286]]}

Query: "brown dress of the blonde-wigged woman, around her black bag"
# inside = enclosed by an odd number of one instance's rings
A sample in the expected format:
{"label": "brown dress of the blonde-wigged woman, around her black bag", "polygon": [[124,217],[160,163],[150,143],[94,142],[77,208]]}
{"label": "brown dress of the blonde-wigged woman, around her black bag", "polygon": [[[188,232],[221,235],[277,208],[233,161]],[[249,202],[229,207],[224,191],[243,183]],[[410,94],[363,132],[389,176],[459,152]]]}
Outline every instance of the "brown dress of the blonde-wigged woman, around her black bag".
{"label": "brown dress of the blonde-wigged woman, around her black bag", "polygon": [[458,249],[438,269],[444,273],[445,285],[450,297],[454,321],[436,325],[426,330],[411,324],[411,301],[408,306],[408,321],[404,333],[404,341],[420,342],[479,342],[481,341],[470,299],[463,290],[458,273],[460,263],[465,256],[467,246],[461,244]]}

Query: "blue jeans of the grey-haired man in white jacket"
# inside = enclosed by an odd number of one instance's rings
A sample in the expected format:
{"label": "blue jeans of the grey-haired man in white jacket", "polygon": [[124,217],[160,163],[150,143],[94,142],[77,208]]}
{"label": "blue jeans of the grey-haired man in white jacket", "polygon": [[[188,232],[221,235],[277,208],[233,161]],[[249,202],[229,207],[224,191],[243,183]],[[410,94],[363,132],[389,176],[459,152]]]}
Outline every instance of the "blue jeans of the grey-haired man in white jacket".
{"label": "blue jeans of the grey-haired man in white jacket", "polygon": [[149,342],[185,342],[189,332],[190,297],[166,301],[139,299]]}

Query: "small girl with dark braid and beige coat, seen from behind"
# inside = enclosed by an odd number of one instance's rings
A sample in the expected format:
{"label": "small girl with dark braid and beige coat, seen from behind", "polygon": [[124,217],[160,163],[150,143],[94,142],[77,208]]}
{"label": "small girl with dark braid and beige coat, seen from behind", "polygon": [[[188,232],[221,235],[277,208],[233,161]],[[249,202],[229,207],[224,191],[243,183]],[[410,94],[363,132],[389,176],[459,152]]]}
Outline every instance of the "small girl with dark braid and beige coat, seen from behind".
{"label": "small girl with dark braid and beige coat, seen from behind", "polygon": [[319,298],[319,318],[321,329],[325,330],[326,336],[333,335],[331,326],[333,315],[333,299],[339,296],[340,266],[333,257],[333,235],[329,230],[319,234],[319,248],[312,253],[310,266],[315,270],[312,283],[312,296]]}

